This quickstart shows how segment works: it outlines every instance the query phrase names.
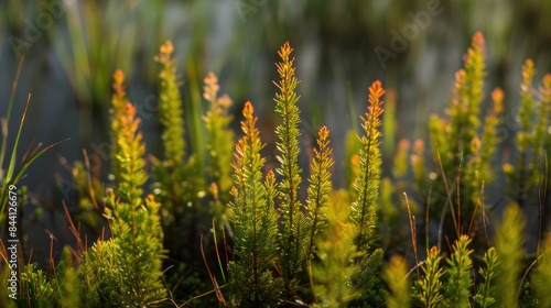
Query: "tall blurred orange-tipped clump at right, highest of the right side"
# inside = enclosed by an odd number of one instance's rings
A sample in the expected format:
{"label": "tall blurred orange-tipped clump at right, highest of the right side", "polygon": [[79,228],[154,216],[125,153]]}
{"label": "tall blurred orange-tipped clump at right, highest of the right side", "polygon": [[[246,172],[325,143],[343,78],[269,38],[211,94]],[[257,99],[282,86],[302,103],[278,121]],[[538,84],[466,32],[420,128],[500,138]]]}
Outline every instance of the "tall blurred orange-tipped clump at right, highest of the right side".
{"label": "tall blurred orange-tipped clump at right, highest of the right side", "polygon": [[434,176],[431,176],[433,182],[425,182],[424,169],[419,165],[422,158],[418,154],[412,158],[417,183],[424,193],[423,197],[428,198],[426,186],[436,188],[432,189],[431,199],[422,202],[439,205],[430,207],[433,217],[440,217],[443,210],[450,208],[452,222],[446,220],[445,224],[454,227],[455,237],[468,232],[472,219],[476,217],[474,213],[484,194],[482,185],[493,176],[489,164],[498,143],[496,134],[503,96],[495,96],[494,109],[486,117],[487,121],[480,133],[479,113],[486,75],[484,53],[485,40],[478,32],[473,36],[472,46],[464,56],[464,68],[455,74],[453,97],[446,110],[449,118],[441,119],[434,114],[430,118],[429,132],[436,166]]}

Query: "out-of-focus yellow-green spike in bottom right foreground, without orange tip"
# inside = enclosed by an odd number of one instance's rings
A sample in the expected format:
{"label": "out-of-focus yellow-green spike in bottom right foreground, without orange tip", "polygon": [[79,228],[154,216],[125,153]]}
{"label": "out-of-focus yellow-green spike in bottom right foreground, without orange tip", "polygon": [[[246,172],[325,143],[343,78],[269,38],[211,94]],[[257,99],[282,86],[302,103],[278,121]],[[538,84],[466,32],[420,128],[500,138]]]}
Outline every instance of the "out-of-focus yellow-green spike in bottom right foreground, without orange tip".
{"label": "out-of-focus yellow-green spike in bottom right foreground, without orange tip", "polygon": [[525,239],[522,235],[525,218],[520,207],[509,205],[504,211],[501,224],[497,229],[496,249],[499,257],[497,287],[499,307],[517,307],[519,277],[525,256]]}

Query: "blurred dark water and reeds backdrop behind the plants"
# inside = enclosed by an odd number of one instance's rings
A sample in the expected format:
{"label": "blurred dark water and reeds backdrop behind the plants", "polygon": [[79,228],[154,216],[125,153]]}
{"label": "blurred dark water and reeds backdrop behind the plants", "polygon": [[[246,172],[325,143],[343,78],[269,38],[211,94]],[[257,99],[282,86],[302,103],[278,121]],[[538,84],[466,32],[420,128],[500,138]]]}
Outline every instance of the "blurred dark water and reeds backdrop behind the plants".
{"label": "blurred dark water and reeds backdrop behind the plants", "polygon": [[[454,74],[476,31],[487,41],[486,94],[504,88],[507,106],[518,102],[520,67],[527,57],[536,62],[536,82],[551,72],[551,1],[547,0],[0,3],[1,117],[6,117],[18,63],[24,56],[10,132],[17,131],[17,119],[31,94],[21,147],[33,140],[51,144],[71,139],[40,157],[22,183],[35,196],[32,206],[54,211],[71,193],[64,162],[83,160],[83,148],[109,157],[108,110],[115,69],[127,74],[129,97],[143,119],[148,151],[160,153],[159,65],[153,56],[165,40],[175,46],[186,131],[196,136],[190,140],[191,151],[204,150],[196,130],[206,109],[201,92],[208,72],[218,76],[220,94],[234,100],[234,128],[238,128],[245,101],[251,100],[263,141],[274,141],[277,89],[271,80],[278,79],[277,51],[289,41],[302,80],[298,88],[302,133],[313,140],[323,124],[332,131],[337,188],[344,185],[346,132],[365,113],[367,87],[375,79],[396,95],[393,111],[387,106],[392,120],[385,127],[383,167],[388,169],[398,141],[426,138],[428,117],[444,113]],[[488,101],[487,95],[485,106]],[[514,119],[514,110],[508,112]],[[509,143],[510,136],[501,148]],[[267,148],[269,158],[272,151]],[[94,168],[105,177],[108,161],[97,160]],[[56,189],[60,184],[65,189]],[[44,228],[39,229],[47,237]]]}

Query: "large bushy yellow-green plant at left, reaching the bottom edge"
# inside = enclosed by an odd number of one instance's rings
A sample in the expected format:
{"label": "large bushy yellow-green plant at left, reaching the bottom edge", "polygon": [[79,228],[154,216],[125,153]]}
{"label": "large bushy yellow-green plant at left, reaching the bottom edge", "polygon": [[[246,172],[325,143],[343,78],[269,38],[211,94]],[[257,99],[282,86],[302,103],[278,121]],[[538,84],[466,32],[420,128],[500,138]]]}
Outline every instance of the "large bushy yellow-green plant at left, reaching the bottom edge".
{"label": "large bushy yellow-green plant at left, reaching the bottom edge", "polygon": [[[122,87],[123,74],[115,74],[115,85]],[[106,210],[112,217],[112,238],[101,241],[83,257],[84,279],[99,284],[98,292],[109,305],[149,305],[161,300],[165,289],[162,276],[162,230],[159,219],[160,204],[152,196],[143,199],[142,186],[148,179],[143,155],[145,146],[138,131],[140,120],[136,108],[126,102],[123,108],[114,100],[112,117],[118,131],[111,132],[117,146],[114,169],[117,186],[108,189],[107,200],[112,207]],[[104,250],[101,249],[104,248]],[[94,267],[98,273],[94,273]],[[112,288],[112,289],[111,289]]]}

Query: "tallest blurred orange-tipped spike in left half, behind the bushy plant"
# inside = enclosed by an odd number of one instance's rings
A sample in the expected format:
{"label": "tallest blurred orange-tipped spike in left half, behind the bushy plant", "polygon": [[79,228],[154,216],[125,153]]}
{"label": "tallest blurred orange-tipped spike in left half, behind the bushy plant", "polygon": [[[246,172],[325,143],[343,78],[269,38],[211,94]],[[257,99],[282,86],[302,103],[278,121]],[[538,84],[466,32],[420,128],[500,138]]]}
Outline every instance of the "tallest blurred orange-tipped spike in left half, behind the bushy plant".
{"label": "tallest blurred orange-tipped spike in left half, behind the bushy plant", "polygon": [[199,241],[198,229],[185,226],[197,224],[197,217],[204,210],[201,199],[206,195],[206,185],[198,164],[203,158],[196,153],[186,153],[184,109],[179,89],[181,80],[176,74],[173,54],[174,46],[171,41],[166,41],[154,57],[161,65],[159,120],[163,129],[163,153],[159,158],[149,156],[152,162],[152,191],[155,194],[155,200],[162,204],[164,248],[169,250],[170,260],[199,263],[199,258],[195,257],[198,254],[198,245],[195,244]]}

